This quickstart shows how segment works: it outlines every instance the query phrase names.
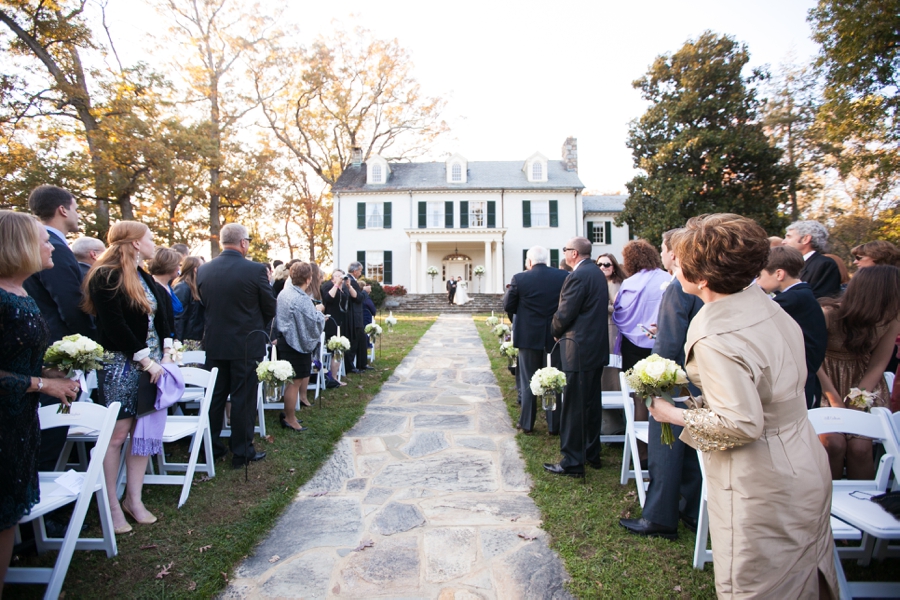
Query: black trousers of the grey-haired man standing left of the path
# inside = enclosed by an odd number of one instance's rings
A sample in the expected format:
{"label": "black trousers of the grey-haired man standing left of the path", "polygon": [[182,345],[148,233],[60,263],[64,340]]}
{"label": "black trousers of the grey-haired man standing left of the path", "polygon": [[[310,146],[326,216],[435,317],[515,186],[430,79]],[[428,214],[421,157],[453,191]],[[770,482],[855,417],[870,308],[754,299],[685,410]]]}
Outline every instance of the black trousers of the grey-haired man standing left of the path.
{"label": "black trousers of the grey-haired man standing left of the path", "polygon": [[209,429],[216,454],[225,451],[219,439],[225,419],[225,402],[231,395],[231,451],[236,457],[252,457],[253,428],[256,426],[256,365],[259,359],[207,359],[207,369],[219,369],[209,407]]}

